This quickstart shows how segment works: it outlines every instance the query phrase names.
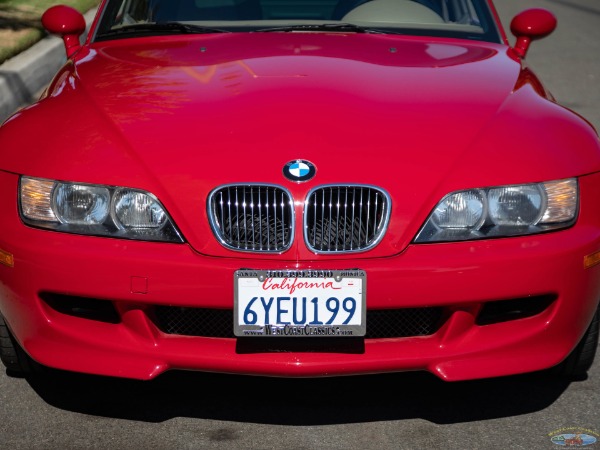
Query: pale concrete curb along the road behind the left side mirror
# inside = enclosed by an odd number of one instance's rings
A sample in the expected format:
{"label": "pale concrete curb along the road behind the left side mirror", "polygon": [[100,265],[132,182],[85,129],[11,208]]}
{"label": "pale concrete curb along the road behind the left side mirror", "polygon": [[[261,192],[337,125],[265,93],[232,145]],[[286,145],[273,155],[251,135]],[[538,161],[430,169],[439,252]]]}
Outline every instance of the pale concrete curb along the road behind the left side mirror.
{"label": "pale concrete curb along the road behind the left side mirror", "polygon": [[[89,26],[96,9],[85,14]],[[87,35],[87,31],[82,39]],[[66,62],[62,39],[49,36],[0,65],[0,123],[20,107],[37,100],[39,92]]]}

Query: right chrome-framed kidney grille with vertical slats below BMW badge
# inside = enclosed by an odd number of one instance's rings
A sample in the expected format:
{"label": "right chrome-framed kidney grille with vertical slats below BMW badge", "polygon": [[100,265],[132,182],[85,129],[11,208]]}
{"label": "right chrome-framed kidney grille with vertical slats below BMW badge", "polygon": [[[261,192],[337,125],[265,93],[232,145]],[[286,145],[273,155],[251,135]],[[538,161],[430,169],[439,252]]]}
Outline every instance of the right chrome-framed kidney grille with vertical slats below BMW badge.
{"label": "right chrome-framed kidney grille with vertical slats below BMW badge", "polygon": [[316,253],[369,250],[390,217],[390,199],[369,186],[324,186],[309,193],[304,211],[308,247]]}

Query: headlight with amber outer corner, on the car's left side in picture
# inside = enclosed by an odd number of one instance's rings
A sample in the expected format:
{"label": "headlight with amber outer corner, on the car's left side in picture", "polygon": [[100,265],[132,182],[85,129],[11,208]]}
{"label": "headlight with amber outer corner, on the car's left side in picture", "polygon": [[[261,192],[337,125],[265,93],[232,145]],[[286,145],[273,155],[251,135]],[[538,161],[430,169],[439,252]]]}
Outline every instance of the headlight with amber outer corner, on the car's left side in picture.
{"label": "headlight with amber outer corner, on the car's left side in picture", "polygon": [[21,177],[19,200],[23,221],[33,227],[183,242],[158,199],[138,189]]}

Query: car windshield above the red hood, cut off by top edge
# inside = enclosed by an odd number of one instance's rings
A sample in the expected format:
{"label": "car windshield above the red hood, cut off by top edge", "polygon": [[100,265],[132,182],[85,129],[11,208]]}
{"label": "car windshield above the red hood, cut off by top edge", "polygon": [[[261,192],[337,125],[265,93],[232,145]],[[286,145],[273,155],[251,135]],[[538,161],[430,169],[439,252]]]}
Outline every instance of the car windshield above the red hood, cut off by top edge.
{"label": "car windshield above the red hood, cut off by top edge", "polygon": [[501,42],[485,0],[109,0],[95,40],[231,31],[395,33]]}

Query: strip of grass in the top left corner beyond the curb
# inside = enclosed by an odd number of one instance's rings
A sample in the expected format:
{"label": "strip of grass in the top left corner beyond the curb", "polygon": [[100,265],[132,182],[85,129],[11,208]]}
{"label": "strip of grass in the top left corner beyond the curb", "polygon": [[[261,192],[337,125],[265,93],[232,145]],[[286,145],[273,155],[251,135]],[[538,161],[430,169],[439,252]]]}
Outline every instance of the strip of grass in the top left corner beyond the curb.
{"label": "strip of grass in the top left corner beyond the curb", "polygon": [[0,0],[0,64],[42,39],[46,32],[40,21],[53,5],[69,5],[86,12],[100,0]]}

